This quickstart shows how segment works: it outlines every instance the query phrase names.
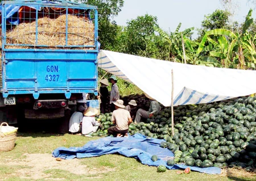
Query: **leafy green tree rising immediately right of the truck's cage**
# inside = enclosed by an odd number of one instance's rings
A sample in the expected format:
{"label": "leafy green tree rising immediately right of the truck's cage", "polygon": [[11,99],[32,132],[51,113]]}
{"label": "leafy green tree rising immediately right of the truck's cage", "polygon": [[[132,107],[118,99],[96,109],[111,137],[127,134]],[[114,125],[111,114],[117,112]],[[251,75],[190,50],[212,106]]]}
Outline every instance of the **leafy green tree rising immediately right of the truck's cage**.
{"label": "leafy green tree rising immediately right of the truck's cage", "polygon": [[123,7],[123,0],[81,0],[77,2],[98,7],[98,37],[101,49],[112,49],[116,43],[118,26],[113,18]]}

